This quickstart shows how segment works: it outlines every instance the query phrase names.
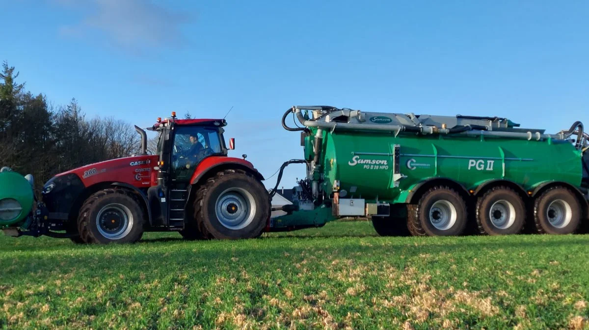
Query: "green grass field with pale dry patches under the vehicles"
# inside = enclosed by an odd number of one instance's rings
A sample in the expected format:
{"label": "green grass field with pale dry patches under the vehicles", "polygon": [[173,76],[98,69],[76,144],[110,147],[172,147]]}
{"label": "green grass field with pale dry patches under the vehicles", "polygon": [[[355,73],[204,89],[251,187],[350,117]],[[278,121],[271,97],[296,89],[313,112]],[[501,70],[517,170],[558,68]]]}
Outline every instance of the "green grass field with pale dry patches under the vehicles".
{"label": "green grass field with pale dry patches under the vehicles", "polygon": [[588,329],[589,235],[378,237],[370,222],[135,245],[0,235],[6,329]]}

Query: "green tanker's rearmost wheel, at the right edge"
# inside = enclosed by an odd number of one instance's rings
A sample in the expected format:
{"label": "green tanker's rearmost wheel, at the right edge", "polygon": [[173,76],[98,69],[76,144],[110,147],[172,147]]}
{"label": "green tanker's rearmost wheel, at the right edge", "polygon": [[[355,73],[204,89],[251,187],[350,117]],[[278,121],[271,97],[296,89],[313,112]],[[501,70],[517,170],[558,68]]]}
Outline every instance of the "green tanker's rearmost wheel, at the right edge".
{"label": "green tanker's rearmost wheel, at the right edge", "polygon": [[574,233],[581,222],[581,205],[571,190],[552,187],[536,197],[534,222],[538,233]]}

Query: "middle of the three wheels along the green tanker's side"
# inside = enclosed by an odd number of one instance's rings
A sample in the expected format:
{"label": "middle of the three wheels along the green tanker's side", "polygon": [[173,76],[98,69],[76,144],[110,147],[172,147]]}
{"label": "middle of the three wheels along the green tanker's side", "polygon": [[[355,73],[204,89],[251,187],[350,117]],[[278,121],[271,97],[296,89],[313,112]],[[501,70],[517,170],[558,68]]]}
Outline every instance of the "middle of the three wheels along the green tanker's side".
{"label": "middle of the three wheels along the green tanker's side", "polygon": [[477,200],[477,226],[482,235],[514,235],[525,223],[525,203],[514,190],[500,186]]}

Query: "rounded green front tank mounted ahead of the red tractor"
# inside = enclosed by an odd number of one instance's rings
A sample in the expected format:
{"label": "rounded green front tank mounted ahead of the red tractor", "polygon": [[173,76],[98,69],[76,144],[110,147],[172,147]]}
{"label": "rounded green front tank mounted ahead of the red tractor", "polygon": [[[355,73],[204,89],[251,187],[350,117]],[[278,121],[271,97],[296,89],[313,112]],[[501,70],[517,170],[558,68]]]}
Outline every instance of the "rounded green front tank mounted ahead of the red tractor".
{"label": "rounded green front tank mounted ahead of the red tractor", "polygon": [[11,170],[0,172],[0,227],[22,223],[31,213],[33,202],[28,179]]}

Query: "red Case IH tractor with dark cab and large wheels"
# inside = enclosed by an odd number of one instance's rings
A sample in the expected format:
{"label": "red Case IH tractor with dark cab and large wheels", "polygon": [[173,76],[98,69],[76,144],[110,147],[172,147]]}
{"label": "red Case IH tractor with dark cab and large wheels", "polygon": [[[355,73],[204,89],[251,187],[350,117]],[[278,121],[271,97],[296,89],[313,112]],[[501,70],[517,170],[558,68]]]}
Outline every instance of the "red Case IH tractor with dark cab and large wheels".
{"label": "red Case IH tractor with dark cab and large wheels", "polygon": [[[177,231],[187,239],[260,236],[269,194],[252,163],[227,157],[224,119],[161,120],[157,152],[90,164],[49,180],[44,223],[78,243],[136,242],[144,232]],[[233,139],[230,140],[233,149]],[[55,236],[55,235],[53,235]]]}

